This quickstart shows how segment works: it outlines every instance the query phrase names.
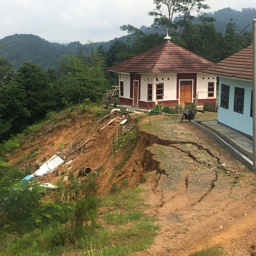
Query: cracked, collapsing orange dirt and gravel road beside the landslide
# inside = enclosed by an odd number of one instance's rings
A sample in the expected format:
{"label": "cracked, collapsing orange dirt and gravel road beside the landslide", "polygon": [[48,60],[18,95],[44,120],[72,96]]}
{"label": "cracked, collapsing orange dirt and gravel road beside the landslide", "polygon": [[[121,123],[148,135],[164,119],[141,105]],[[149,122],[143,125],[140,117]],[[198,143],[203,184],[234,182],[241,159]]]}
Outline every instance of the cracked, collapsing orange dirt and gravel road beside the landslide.
{"label": "cracked, collapsing orange dirt and gravel road beside the landslide", "polygon": [[[177,119],[177,118],[176,118]],[[150,172],[147,213],[161,228],[153,245],[135,255],[178,255],[222,245],[232,256],[256,245],[255,175],[229,151],[189,123],[153,117],[141,132]],[[222,226],[222,228],[220,228]]]}

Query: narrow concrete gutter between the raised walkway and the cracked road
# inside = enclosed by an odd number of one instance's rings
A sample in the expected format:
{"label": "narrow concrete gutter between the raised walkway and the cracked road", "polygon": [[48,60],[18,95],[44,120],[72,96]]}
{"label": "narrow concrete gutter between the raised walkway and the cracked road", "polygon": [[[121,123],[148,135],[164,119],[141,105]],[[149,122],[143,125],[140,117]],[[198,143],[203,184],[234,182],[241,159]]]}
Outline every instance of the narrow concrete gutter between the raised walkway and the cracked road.
{"label": "narrow concrete gutter between the raised walkway and the cracked road", "polygon": [[212,138],[214,138],[217,142],[219,142],[225,149],[229,150],[236,158],[238,158],[242,163],[248,166],[250,169],[253,168],[253,162],[251,159],[246,157],[243,153],[235,149],[232,145],[226,142],[223,138],[221,138],[218,134],[214,133],[213,131],[207,129],[206,127],[201,125],[201,121],[190,121],[190,124],[199,128]]}

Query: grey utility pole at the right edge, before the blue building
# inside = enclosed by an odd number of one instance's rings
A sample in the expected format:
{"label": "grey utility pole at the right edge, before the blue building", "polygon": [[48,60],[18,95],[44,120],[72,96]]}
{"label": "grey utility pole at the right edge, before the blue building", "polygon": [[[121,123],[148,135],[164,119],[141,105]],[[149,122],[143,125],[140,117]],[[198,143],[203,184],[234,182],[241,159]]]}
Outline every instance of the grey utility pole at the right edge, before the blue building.
{"label": "grey utility pole at the right edge, before the blue building", "polygon": [[256,172],[256,19],[253,19],[253,171]]}

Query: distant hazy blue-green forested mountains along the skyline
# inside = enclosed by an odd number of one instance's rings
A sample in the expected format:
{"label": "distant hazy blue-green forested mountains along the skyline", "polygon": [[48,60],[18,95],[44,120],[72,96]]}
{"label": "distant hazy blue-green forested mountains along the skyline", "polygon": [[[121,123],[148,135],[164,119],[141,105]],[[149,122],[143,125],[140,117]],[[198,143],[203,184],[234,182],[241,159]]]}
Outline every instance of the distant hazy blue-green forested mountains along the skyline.
{"label": "distant hazy blue-green forested mountains along the skyline", "polygon": [[[245,8],[242,11],[236,11],[231,8],[224,8],[214,13],[207,14],[209,17],[214,17],[216,21],[214,26],[218,32],[225,33],[226,25],[233,19],[236,23],[236,32],[240,33],[243,28],[256,17],[255,8]],[[193,23],[198,23],[195,21]],[[200,23],[200,22],[199,22]],[[248,30],[250,27],[248,28]],[[146,26],[141,26],[140,30],[145,34],[158,33],[164,34],[162,29],[149,29]],[[115,38],[108,42],[97,42],[95,46],[102,45],[102,49],[108,51],[113,42],[120,40],[129,46],[132,46],[134,37],[126,35],[120,38]],[[0,40],[1,43],[8,43],[9,47],[4,47],[0,50],[0,56],[8,59],[11,64],[17,68],[22,65],[24,61],[31,61],[36,65],[40,65],[43,69],[56,69],[61,61],[61,55],[71,54],[78,55],[82,50],[85,56],[89,56],[91,52],[91,44],[82,45],[79,41],[72,42],[67,45],[59,43],[51,43],[37,35],[32,34],[15,34],[9,35]]]}

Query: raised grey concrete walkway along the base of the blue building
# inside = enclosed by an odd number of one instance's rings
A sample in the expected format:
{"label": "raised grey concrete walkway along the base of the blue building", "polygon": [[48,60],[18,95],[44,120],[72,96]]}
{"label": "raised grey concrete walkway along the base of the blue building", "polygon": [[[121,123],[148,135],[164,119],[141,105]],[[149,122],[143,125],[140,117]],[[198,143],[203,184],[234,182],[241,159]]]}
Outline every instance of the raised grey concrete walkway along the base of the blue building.
{"label": "raised grey concrete walkway along the base of the blue building", "polygon": [[253,159],[253,142],[242,134],[218,123],[217,121],[201,121],[201,125],[218,134],[246,157]]}

